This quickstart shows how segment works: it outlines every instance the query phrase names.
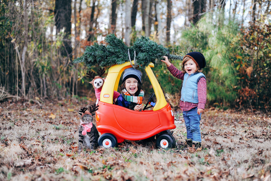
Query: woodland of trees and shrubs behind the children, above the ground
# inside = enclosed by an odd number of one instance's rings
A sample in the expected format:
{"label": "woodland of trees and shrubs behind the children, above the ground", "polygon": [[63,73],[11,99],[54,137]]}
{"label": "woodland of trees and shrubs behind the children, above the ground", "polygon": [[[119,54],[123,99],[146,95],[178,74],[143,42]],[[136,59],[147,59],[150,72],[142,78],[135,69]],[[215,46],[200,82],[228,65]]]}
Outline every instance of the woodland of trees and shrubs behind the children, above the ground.
{"label": "woodland of trees and shrubs behind the children, above the ground", "polygon": [[[94,89],[85,73],[98,67],[72,61],[114,33],[128,46],[147,36],[171,54],[202,52],[207,106],[268,112],[270,27],[269,0],[1,0],[0,101],[88,98]],[[178,107],[181,81],[157,63],[153,71]]]}

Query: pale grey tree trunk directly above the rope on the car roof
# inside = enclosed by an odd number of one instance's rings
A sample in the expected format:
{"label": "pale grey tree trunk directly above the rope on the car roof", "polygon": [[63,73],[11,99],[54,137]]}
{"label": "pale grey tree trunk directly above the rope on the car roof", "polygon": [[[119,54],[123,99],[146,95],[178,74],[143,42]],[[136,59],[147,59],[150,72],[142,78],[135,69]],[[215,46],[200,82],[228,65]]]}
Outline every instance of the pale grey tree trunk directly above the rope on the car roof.
{"label": "pale grey tree trunk directly above the rope on the car roof", "polygon": [[130,46],[131,40],[130,35],[132,33],[132,22],[131,22],[131,0],[126,0],[125,2],[125,44],[127,46]]}

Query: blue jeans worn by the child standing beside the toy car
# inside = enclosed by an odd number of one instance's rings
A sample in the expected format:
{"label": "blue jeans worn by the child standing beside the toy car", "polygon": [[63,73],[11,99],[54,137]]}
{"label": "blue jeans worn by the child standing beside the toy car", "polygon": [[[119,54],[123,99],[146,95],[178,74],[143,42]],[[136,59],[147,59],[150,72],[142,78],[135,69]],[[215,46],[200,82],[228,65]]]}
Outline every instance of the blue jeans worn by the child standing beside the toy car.
{"label": "blue jeans worn by the child standing beside the toy car", "polygon": [[198,108],[194,107],[189,111],[183,111],[183,119],[187,131],[187,139],[192,141],[201,142],[199,122],[201,119],[201,113],[198,115]]}

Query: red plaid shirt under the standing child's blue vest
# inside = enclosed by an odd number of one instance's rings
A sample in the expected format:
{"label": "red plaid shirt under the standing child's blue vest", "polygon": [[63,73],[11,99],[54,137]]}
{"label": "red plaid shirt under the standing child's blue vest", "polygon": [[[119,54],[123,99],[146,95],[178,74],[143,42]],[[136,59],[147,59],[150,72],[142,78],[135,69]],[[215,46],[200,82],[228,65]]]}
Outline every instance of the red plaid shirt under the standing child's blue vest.
{"label": "red plaid shirt under the standing child's blue vest", "polygon": [[[170,71],[170,73],[178,78],[183,80],[184,73],[180,70],[178,70],[174,65],[171,64],[171,66],[167,67],[167,69]],[[205,103],[206,103],[206,79],[200,78],[198,82],[198,100],[199,103],[190,103],[190,102],[184,102],[180,100],[180,108],[182,111],[188,111],[194,107],[197,107],[198,109],[204,109]]]}

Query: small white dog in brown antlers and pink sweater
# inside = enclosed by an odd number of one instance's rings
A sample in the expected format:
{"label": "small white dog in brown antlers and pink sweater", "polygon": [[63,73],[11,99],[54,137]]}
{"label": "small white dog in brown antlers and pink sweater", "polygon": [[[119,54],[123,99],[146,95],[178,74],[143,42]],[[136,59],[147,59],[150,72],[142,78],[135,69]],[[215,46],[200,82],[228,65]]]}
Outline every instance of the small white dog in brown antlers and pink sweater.
{"label": "small white dog in brown antlers and pink sweater", "polygon": [[[100,101],[101,90],[102,90],[102,87],[103,87],[104,81],[105,81],[105,78],[101,78],[101,76],[104,74],[104,72],[105,72],[104,68],[103,69],[100,68],[99,70],[97,70],[97,73],[98,73],[97,76],[94,76],[95,73],[93,71],[88,71],[88,73],[86,75],[86,77],[93,78],[93,80],[89,83],[93,85],[94,90],[95,90],[95,96],[97,98],[96,105],[98,105],[98,103]],[[116,102],[119,95],[120,95],[120,93],[114,90],[114,93],[113,93],[113,101],[114,102]]]}

